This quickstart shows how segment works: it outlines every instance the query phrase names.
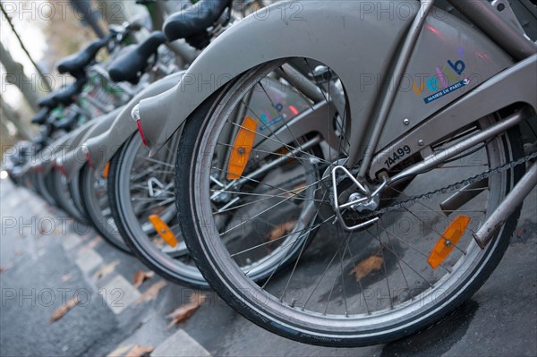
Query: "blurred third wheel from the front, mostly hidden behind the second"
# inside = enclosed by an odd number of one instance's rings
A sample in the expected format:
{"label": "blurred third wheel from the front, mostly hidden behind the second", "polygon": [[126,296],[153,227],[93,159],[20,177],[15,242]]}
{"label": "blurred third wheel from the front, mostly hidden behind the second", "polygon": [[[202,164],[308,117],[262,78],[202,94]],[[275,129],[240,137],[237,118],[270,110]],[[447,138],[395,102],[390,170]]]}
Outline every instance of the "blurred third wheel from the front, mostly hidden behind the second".
{"label": "blurred third wheel from the front, mostly hidden behind the second", "polygon": [[86,216],[98,233],[121,251],[132,254],[117,230],[107,194],[107,178],[89,164],[81,168],[79,174],[81,201]]}

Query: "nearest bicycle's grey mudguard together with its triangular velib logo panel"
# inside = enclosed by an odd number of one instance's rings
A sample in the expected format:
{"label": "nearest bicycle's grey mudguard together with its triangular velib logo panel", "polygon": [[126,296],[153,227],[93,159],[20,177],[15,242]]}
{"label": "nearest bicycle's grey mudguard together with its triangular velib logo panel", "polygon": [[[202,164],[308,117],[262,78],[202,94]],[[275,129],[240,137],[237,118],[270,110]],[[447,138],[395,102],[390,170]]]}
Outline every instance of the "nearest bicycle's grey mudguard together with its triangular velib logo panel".
{"label": "nearest bicycle's grey mudguard together with its triangular velib logo panel", "polygon": [[[395,8],[387,12],[387,4]],[[407,7],[406,16],[396,11],[396,6],[403,4]],[[387,89],[387,73],[419,9],[417,2],[311,1],[301,2],[299,13],[296,5],[293,1],[274,4],[263,10],[263,21],[259,13],[253,14],[226,30],[198,57],[174,89],[141,101],[141,128],[151,153],[226,82],[278,58],[313,58],[337,73],[350,98],[349,138],[354,148],[367,144],[363,139],[371,131],[380,96],[386,90],[398,93],[385,125],[394,130],[381,138],[383,144],[409,129],[405,118],[411,117],[412,125],[421,123],[512,64],[489,38],[455,16],[435,9],[418,38],[405,73],[406,81],[401,88]],[[465,63],[466,71],[461,71],[458,61]],[[449,63],[453,65],[444,68]],[[456,75],[444,74],[450,68]],[[453,89],[441,98],[431,97],[434,90],[464,81],[466,76],[470,81],[465,83],[464,90]]]}

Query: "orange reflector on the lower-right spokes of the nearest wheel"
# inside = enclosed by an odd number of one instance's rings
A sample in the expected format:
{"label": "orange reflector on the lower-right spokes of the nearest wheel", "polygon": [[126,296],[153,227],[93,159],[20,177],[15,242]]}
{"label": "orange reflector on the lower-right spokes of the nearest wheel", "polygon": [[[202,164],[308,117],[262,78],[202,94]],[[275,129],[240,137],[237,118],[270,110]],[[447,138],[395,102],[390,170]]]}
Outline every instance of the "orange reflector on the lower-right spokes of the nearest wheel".
{"label": "orange reflector on the lower-right spokes of the nearest wheel", "polygon": [[439,265],[447,258],[449,253],[453,251],[456,243],[465,234],[466,226],[470,223],[470,217],[457,216],[453,222],[451,222],[444,233],[440,236],[439,240],[434,245],[432,251],[430,251],[429,265],[431,268],[439,268]]}

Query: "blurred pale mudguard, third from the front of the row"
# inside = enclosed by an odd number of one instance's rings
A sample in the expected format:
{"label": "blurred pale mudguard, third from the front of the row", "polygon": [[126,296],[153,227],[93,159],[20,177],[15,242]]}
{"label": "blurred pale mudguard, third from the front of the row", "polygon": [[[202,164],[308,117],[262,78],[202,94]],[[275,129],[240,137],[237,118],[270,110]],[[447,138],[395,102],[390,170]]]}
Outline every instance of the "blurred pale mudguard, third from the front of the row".
{"label": "blurred pale mudguard, third from the front of the row", "polygon": [[70,182],[72,177],[86,164],[86,153],[82,149],[81,144],[86,142],[89,138],[107,131],[107,129],[110,128],[110,125],[114,123],[117,115],[122,112],[123,108],[124,106],[117,108],[106,115],[101,115],[98,118],[95,118],[95,125],[93,125],[80,140],[77,140],[76,143],[73,142],[71,149],[63,157],[56,157],[55,164],[64,168],[64,173],[67,176],[68,182]]}

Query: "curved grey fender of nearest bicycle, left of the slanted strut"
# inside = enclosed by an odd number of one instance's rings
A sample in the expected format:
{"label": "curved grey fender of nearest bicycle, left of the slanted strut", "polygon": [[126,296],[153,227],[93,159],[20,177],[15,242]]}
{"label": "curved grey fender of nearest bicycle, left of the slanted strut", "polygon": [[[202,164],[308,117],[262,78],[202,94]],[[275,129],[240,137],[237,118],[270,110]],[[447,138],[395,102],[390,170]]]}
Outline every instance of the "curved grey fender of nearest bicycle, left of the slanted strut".
{"label": "curved grey fender of nearest bicycle, left of the slanted strut", "polygon": [[[379,89],[363,73],[385,73],[413,21],[379,13],[384,1],[285,1],[226,30],[196,59],[175,88],[141,101],[141,128],[151,153],[162,147],[209,96],[242,72],[286,57],[313,58],[332,68],[350,95],[355,131],[367,123]],[[417,13],[419,2],[405,2]],[[382,44],[382,46],[379,46]],[[337,54],[337,55],[335,55]],[[353,118],[354,120],[354,118]]]}

